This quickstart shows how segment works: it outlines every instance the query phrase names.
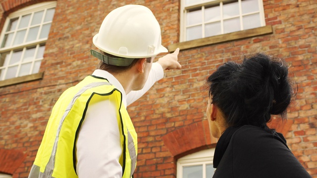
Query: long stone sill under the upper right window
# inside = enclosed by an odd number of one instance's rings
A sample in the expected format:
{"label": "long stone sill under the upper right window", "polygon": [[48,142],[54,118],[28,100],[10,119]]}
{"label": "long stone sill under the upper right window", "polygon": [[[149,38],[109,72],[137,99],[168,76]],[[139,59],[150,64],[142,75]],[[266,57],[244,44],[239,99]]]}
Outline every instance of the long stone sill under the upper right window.
{"label": "long stone sill under the upper right window", "polygon": [[193,48],[193,47],[199,47],[199,46],[204,46],[204,45],[213,45],[213,44],[229,42],[229,41],[233,41],[233,40],[241,40],[241,39],[245,39],[245,38],[256,37],[259,35],[266,35],[266,34],[272,34],[272,33],[273,33],[272,26],[267,25],[264,27],[259,27],[259,28],[243,30],[243,31],[239,31],[239,32],[233,32],[233,33],[229,33],[229,34],[217,35],[217,36],[207,37],[207,38],[203,38],[203,39],[197,39],[197,40],[191,40],[191,41],[187,41],[187,42],[172,44],[172,45],[168,46],[168,51],[172,52],[177,47],[179,47],[179,49],[189,49],[189,48]]}

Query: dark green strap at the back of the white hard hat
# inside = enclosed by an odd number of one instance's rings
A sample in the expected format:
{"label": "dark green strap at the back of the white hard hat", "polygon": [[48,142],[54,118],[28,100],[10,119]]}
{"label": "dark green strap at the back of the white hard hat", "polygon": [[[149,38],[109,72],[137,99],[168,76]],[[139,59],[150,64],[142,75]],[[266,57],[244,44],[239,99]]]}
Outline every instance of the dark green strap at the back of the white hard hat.
{"label": "dark green strap at the back of the white hard hat", "polygon": [[110,57],[104,55],[94,49],[90,49],[91,55],[97,57],[98,59],[102,60],[106,64],[115,65],[115,66],[128,66],[130,65],[134,58],[125,58],[125,57]]}

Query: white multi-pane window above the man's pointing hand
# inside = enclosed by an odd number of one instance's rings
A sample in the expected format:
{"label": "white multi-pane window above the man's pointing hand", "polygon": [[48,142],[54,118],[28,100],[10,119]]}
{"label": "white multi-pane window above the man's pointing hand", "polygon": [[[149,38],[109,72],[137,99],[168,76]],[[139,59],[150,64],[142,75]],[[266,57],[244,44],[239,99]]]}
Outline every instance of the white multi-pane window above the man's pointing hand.
{"label": "white multi-pane window above the man's pointing hand", "polygon": [[180,41],[265,26],[262,0],[181,0]]}

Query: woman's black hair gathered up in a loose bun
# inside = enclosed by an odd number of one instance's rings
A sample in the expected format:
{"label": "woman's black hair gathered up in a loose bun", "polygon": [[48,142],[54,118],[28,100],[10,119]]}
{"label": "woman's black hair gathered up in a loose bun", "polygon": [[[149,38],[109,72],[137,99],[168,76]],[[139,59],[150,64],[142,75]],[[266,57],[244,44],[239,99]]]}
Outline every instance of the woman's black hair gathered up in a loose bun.
{"label": "woman's black hair gathered up in a loose bun", "polygon": [[226,62],[207,79],[209,96],[223,113],[228,127],[253,125],[270,130],[272,115],[286,119],[296,91],[285,61],[264,53]]}

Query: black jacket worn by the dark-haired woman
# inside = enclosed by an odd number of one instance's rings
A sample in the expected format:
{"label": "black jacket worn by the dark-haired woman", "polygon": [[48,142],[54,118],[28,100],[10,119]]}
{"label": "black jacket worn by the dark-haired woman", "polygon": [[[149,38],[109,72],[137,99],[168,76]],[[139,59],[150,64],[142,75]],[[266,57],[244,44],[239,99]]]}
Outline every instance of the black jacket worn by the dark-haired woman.
{"label": "black jacket worn by the dark-haired woman", "polygon": [[212,178],[311,178],[282,134],[255,126],[228,128],[213,157]]}

